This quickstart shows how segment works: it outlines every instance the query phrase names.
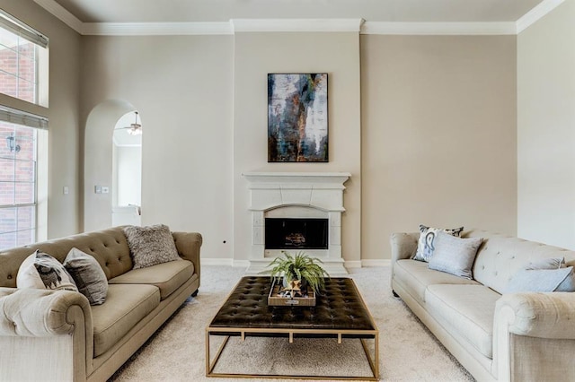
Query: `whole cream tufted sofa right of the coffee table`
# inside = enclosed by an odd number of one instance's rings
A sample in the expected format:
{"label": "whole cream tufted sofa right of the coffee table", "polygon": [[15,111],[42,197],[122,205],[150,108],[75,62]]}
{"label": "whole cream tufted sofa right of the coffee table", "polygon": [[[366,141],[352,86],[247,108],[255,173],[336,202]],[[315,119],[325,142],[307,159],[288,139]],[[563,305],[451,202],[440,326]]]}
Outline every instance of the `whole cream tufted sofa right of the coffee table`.
{"label": "whole cream tufted sofa right of the coffee table", "polygon": [[419,233],[394,233],[392,288],[478,381],[567,381],[575,376],[575,294],[501,294],[530,261],[575,252],[483,230],[474,280],[411,260]]}

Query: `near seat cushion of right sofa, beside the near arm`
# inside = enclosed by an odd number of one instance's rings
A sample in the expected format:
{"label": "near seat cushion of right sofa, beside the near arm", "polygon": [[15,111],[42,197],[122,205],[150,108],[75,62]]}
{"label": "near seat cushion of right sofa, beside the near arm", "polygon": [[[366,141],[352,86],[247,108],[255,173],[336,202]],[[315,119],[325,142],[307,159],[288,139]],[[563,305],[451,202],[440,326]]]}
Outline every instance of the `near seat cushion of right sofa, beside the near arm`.
{"label": "near seat cushion of right sofa, beside the near arm", "polygon": [[483,285],[429,285],[426,306],[443,328],[493,358],[493,317],[501,295]]}

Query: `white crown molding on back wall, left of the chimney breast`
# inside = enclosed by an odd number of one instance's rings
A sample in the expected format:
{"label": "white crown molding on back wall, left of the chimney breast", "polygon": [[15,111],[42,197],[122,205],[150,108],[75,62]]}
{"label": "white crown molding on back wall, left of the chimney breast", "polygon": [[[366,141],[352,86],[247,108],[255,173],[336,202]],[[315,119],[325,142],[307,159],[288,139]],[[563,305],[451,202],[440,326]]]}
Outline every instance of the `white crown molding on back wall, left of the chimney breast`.
{"label": "white crown molding on back wall, left of the chimney breast", "polygon": [[178,36],[226,35],[234,31],[229,22],[84,22],[87,36]]}

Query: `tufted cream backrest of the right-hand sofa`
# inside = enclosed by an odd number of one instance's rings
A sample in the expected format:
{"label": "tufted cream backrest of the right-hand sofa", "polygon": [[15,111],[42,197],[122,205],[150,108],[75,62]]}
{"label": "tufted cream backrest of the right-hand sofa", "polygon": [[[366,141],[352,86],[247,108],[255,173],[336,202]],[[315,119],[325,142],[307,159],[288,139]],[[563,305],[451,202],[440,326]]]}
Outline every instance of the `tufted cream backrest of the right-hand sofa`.
{"label": "tufted cream backrest of the right-hand sofa", "polygon": [[548,257],[565,257],[575,265],[575,251],[547,246],[485,230],[464,232],[464,238],[483,238],[473,265],[473,279],[502,293],[511,277],[529,262]]}

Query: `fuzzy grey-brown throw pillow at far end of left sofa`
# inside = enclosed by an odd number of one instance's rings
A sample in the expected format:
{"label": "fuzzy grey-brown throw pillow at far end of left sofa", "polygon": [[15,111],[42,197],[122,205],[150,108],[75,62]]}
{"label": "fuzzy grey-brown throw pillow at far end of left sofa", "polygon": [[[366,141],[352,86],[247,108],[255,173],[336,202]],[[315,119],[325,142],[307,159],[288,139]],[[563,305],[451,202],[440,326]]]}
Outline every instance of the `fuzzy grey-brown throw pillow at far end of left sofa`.
{"label": "fuzzy grey-brown throw pillow at far end of left sofa", "polygon": [[124,227],[134,269],[179,260],[172,232],[167,225]]}

